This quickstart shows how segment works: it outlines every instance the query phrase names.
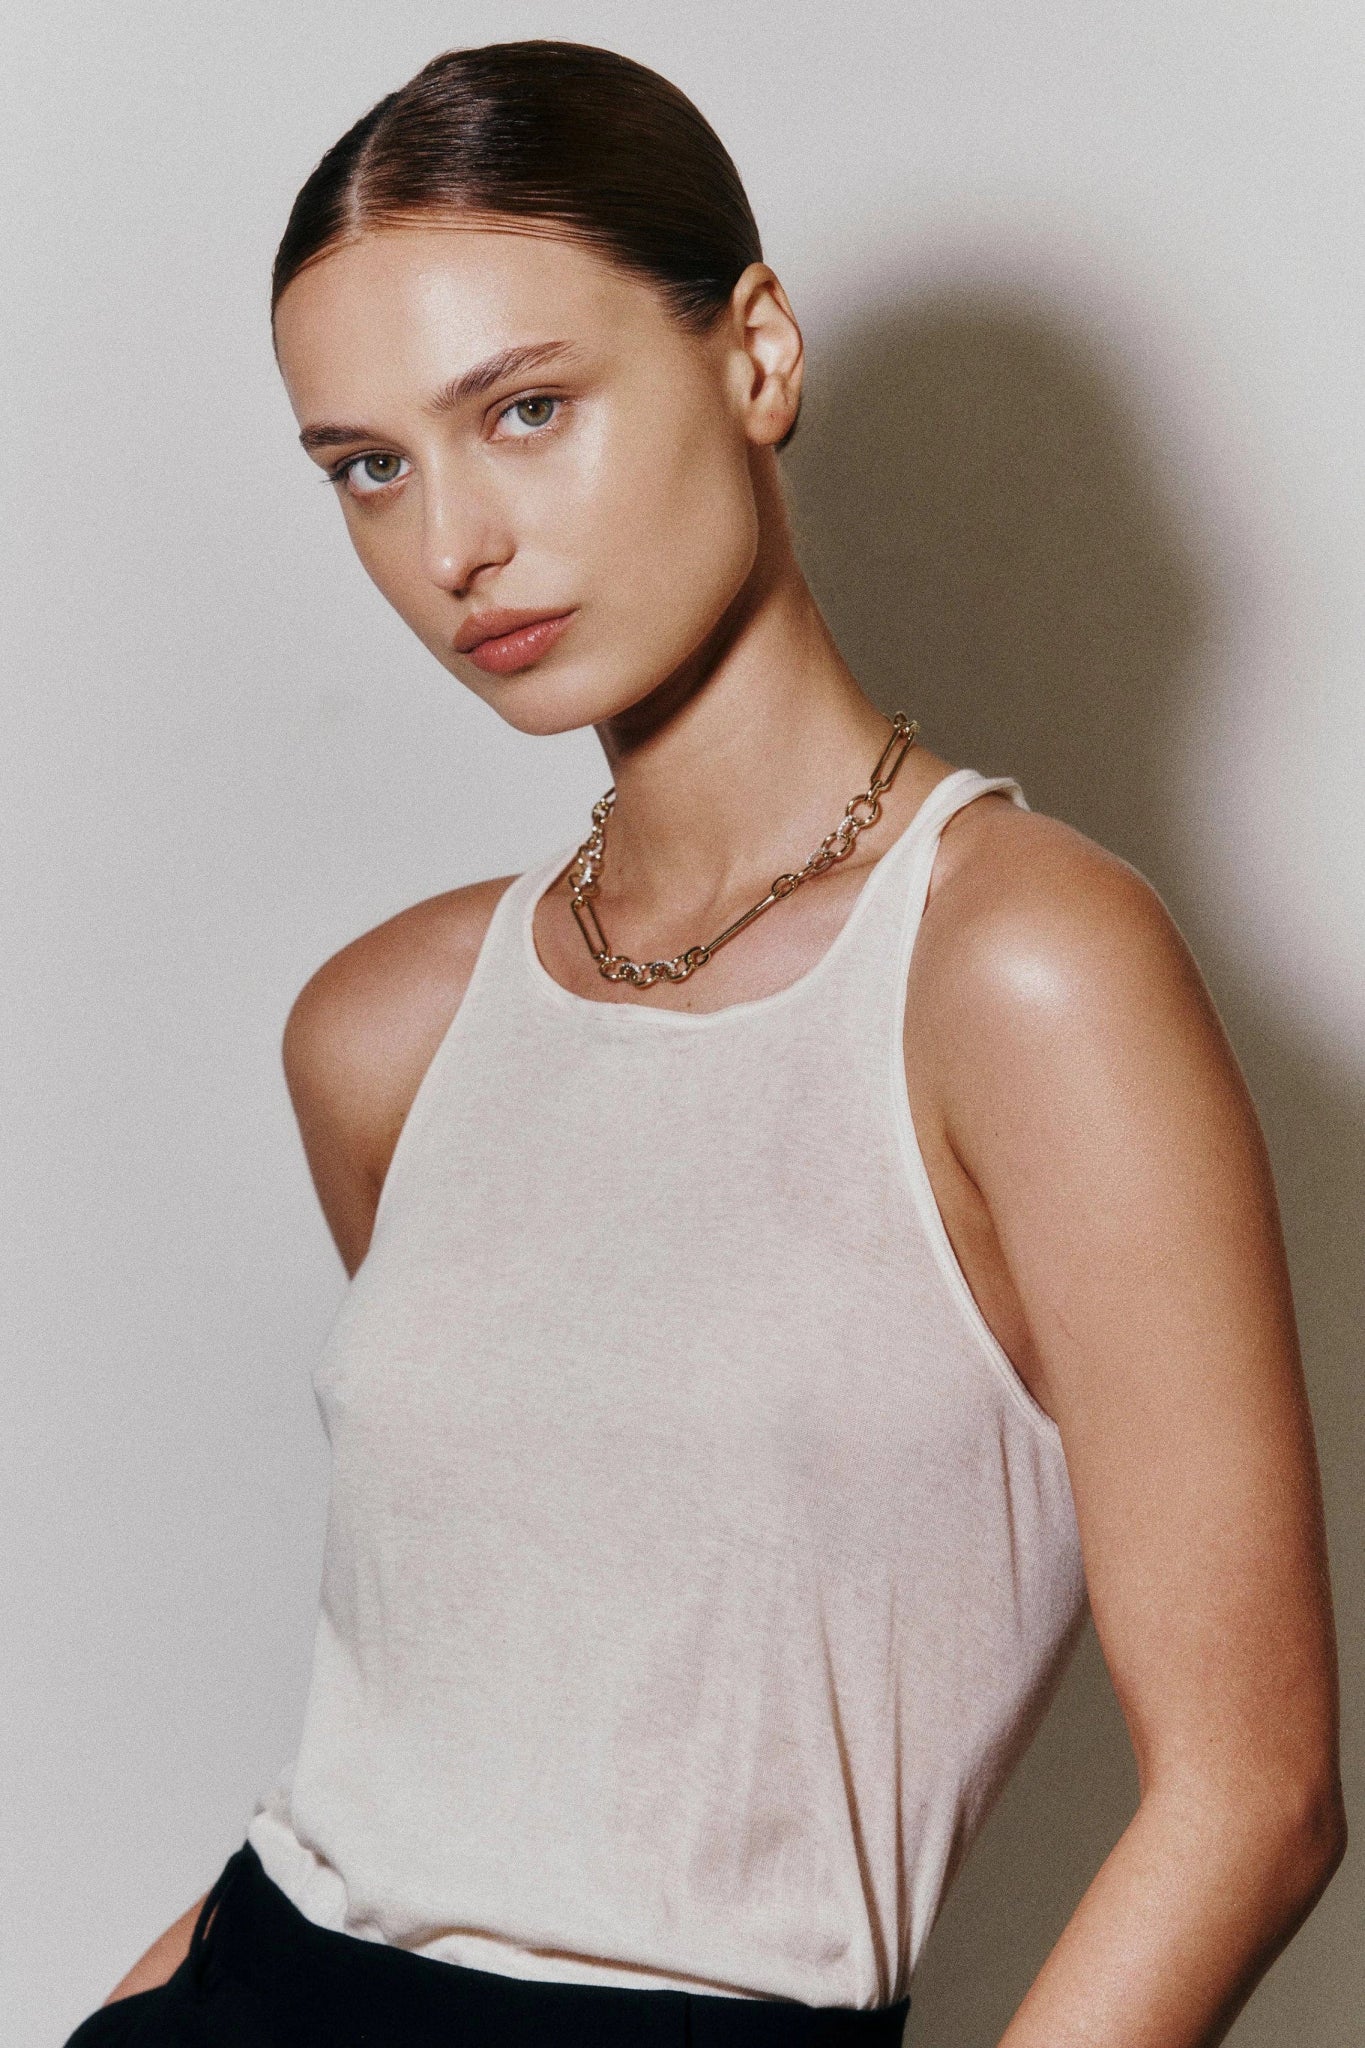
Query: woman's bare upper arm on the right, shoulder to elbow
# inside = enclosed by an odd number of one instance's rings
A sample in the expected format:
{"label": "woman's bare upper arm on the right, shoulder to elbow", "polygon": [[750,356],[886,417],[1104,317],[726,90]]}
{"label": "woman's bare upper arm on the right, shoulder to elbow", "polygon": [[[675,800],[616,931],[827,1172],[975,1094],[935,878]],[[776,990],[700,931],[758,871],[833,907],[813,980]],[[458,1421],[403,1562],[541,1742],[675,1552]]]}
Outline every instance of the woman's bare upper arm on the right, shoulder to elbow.
{"label": "woman's bare upper arm on the right, shoulder to elbow", "polygon": [[939,1100],[1042,1362],[1142,1780],[1330,1786],[1318,1468],[1246,1083],[1132,868],[1023,813],[993,842],[925,913]]}

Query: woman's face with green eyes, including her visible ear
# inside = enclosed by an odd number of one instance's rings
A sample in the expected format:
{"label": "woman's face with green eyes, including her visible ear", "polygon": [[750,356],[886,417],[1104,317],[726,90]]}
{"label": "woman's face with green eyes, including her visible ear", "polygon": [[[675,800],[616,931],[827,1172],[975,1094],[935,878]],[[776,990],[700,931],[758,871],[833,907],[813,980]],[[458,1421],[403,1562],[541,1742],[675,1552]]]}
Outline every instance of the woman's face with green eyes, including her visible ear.
{"label": "woman's face with green eyes, including her visible ear", "polygon": [[[790,324],[769,276],[745,272]],[[364,233],[282,293],[284,385],[360,561],[520,731],[639,705],[743,610],[794,412],[749,299],[698,338],[579,244],[463,223]]]}

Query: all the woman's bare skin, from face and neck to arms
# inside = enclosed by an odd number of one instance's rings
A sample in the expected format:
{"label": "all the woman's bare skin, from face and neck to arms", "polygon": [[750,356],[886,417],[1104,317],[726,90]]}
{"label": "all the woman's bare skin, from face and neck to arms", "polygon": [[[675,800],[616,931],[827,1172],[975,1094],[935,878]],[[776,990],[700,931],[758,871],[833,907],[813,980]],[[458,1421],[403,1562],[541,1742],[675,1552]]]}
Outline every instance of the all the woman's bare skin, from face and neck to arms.
{"label": "all the woman's bare skin, from face and neck to arms", "polygon": [[[571,352],[434,406],[477,365],[551,342]],[[391,225],[295,279],[276,348],[301,428],[362,428],[313,453],[366,459],[338,483],[342,512],[422,643],[520,731],[598,731],[618,791],[600,909],[620,950],[677,952],[800,864],[886,721],[792,549],[774,451],[802,344],[765,264],[696,336],[563,238]],[[491,606],[575,616],[530,670],[487,676],[452,639]],[[686,983],[604,983],[563,879],[536,909],[540,958],[596,1001],[769,993],[825,952],[948,772],[915,748],[855,854]],[[289,1085],[352,1274],[508,881],[354,940],[289,1018]],[[1062,1432],[1140,1774],[1134,1821],[1001,2048],[1209,2048],[1345,1849],[1318,1468],[1257,1116],[1154,891],[1001,797],[943,831],[905,1057],[954,1249]],[[162,1982],[190,1925],[115,1997]]]}

